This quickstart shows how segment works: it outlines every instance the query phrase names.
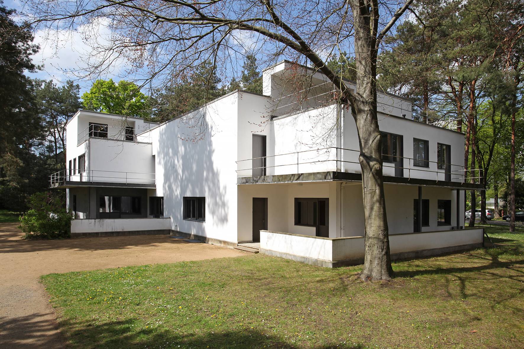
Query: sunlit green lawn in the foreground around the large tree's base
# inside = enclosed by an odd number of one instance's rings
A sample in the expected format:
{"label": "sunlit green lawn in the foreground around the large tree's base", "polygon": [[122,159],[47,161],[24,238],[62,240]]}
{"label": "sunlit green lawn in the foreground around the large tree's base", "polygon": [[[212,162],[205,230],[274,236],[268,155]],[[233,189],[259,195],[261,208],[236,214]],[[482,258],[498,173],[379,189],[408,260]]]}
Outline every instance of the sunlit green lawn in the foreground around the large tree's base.
{"label": "sunlit green lawn in the foreground around the large tree's base", "polygon": [[396,279],[264,255],[42,277],[74,348],[521,348],[524,229]]}

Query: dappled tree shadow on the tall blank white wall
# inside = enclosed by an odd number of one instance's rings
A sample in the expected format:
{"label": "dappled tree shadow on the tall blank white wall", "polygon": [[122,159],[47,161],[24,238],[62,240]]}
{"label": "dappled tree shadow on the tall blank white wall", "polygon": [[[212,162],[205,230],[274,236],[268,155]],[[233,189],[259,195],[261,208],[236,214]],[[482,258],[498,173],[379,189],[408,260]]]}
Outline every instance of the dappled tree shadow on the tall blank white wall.
{"label": "dappled tree shadow on the tall blank white wall", "polygon": [[[204,112],[209,117],[209,112]],[[228,142],[234,146],[235,139],[230,130],[217,129],[203,120],[204,116],[195,116],[189,121],[174,120],[159,130],[157,162],[163,165],[163,197],[166,202],[164,215],[171,216],[173,223],[182,223],[182,197],[205,197],[206,221],[212,226],[224,226],[228,223],[228,200],[226,186],[221,182],[222,169],[232,168],[231,177],[236,186],[234,171],[236,146],[229,154],[215,154],[214,144],[220,143],[221,152],[226,152]],[[236,129],[236,128],[235,128]],[[221,163],[215,163],[221,159]],[[231,163],[228,163],[231,162]],[[199,223],[200,224],[200,223]],[[208,226],[208,228],[211,228]],[[202,234],[202,230],[191,233]],[[190,232],[188,232],[190,233]]]}

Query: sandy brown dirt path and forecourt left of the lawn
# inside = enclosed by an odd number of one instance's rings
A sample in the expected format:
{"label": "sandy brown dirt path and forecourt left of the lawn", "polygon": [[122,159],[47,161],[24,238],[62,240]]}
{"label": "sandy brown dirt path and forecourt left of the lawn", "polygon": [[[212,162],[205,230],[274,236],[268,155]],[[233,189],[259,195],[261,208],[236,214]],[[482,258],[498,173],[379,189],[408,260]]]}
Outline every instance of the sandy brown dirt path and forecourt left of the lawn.
{"label": "sandy brown dirt path and forecourt left of the lawn", "polygon": [[168,235],[24,241],[17,225],[0,224],[0,348],[67,347],[41,275],[244,255]]}

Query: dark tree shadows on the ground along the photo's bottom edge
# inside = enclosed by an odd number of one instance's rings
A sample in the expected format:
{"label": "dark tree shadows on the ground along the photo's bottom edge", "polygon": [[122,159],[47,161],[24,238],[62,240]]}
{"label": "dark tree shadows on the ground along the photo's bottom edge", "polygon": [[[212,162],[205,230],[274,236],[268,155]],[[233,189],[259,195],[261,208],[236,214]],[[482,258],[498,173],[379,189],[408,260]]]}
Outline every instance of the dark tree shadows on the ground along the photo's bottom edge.
{"label": "dark tree shadows on the ground along the photo's bottom edge", "polygon": [[[2,323],[0,318],[0,323]],[[9,319],[11,323],[19,323],[23,328],[26,338],[41,336],[42,324],[31,320],[30,317]],[[45,326],[45,324],[43,324]],[[9,329],[16,326],[4,326],[2,335],[13,337]],[[276,336],[263,334],[257,330],[237,330],[221,332],[220,329],[202,329],[197,333],[178,334],[177,329],[158,330],[156,328],[144,328],[134,319],[117,322],[89,323],[64,320],[60,323],[65,337],[69,339],[73,347],[79,348],[280,348],[300,349],[304,346],[284,342]],[[140,327],[140,329],[137,329]],[[45,336],[43,336],[45,337]],[[297,336],[298,337],[298,336]],[[297,338],[295,338],[297,339]],[[16,343],[13,343],[16,344]],[[48,343],[50,344],[50,343]],[[56,344],[56,343],[54,343]],[[8,346],[9,348],[16,346]],[[45,346],[42,346],[45,347]],[[308,346],[310,347],[310,346]],[[331,345],[319,345],[314,349],[361,349],[361,344],[350,345],[344,343],[333,343]]]}

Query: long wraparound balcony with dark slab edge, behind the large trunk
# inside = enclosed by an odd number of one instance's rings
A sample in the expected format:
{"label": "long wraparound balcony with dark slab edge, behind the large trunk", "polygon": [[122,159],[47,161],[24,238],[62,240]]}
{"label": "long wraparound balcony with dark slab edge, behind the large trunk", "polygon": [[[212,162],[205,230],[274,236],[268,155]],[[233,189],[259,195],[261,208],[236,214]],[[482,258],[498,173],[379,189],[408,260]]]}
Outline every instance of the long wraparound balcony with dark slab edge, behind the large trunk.
{"label": "long wraparound balcony with dark slab edge, behind the large trunk", "polygon": [[[289,152],[286,154],[238,160],[237,183],[278,183],[319,180],[361,181],[360,151],[340,147],[326,147]],[[409,157],[383,155],[391,160],[383,162],[386,183],[444,186],[461,189],[483,189],[479,169],[463,165],[440,163]],[[416,165],[417,164],[417,165]],[[473,183],[471,180],[473,179]]]}

